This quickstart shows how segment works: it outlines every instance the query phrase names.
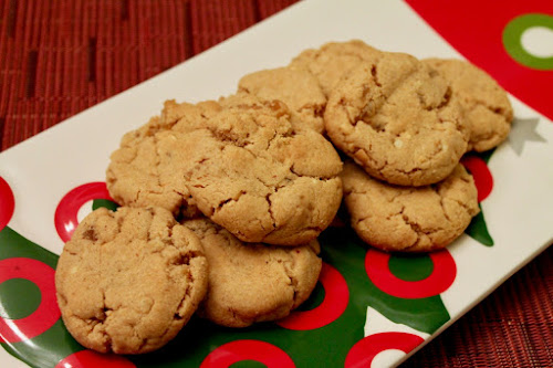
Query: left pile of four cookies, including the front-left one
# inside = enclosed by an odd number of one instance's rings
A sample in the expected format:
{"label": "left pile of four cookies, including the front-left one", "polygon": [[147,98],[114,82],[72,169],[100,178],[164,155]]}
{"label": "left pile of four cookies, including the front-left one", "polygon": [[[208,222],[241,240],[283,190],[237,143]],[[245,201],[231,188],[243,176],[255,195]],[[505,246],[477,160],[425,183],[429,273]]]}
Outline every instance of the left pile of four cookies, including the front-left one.
{"label": "left pile of four cookies, including the front-left one", "polygon": [[62,315],[82,345],[146,353],[195,312],[244,327],[310,296],[343,165],[292,120],[284,103],[241,92],[169,101],[123,137],[106,180],[122,207],[87,215],[58,266]]}

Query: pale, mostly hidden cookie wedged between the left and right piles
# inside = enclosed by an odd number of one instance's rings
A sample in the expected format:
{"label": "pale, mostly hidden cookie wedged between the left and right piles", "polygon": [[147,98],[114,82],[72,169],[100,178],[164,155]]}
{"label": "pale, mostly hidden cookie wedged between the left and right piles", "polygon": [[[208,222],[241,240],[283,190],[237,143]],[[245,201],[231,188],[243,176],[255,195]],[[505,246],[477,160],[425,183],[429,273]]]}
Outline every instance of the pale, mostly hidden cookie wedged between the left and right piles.
{"label": "pale, mostly hidden cookie wedged between the left and right piles", "polygon": [[280,99],[288,105],[295,128],[323,133],[326,97],[319,81],[307,71],[279,67],[243,76],[238,88],[261,99]]}

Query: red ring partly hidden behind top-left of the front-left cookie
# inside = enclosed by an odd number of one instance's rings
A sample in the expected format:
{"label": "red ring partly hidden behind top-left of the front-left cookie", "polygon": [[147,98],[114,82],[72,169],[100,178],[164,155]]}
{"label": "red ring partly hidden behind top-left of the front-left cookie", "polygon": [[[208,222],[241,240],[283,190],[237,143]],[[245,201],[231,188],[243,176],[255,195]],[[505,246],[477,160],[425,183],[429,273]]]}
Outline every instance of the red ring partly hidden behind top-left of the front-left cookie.
{"label": "red ring partly hidden behind top-left of the front-left cookie", "polygon": [[113,201],[105,182],[96,181],[82,185],[62,198],[55,209],[54,224],[58,234],[64,242],[70,241],[73,231],[75,231],[79,224],[76,218],[79,209],[93,199],[108,199]]}

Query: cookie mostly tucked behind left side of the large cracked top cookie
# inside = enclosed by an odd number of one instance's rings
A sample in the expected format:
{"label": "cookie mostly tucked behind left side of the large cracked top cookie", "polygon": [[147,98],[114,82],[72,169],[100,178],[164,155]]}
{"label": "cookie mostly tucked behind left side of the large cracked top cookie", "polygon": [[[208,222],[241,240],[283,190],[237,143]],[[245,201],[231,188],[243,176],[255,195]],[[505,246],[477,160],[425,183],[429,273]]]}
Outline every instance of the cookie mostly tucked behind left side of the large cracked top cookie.
{"label": "cookie mostly tucked behind left side of the large cracked top cookie", "polygon": [[216,102],[191,105],[168,101],[160,116],[127,133],[121,147],[112,154],[106,170],[106,185],[112,198],[121,206],[157,206],[175,215],[198,215],[199,211],[178,170],[179,162],[165,155],[167,149],[159,145],[158,134],[194,129],[218,109]]}

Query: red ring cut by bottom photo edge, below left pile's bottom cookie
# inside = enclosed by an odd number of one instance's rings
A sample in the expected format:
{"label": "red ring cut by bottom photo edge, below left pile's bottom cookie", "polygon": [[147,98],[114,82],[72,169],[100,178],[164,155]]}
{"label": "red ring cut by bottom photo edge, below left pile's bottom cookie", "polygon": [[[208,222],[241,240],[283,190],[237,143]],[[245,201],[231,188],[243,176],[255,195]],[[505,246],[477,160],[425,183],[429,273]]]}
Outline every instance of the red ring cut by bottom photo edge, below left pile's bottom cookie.
{"label": "red ring cut by bottom photo edge, below left pile's bottom cookie", "polygon": [[211,351],[200,368],[226,368],[242,360],[255,360],[267,368],[294,368],[294,361],[281,348],[261,340],[236,340]]}

